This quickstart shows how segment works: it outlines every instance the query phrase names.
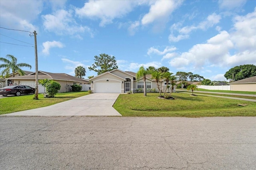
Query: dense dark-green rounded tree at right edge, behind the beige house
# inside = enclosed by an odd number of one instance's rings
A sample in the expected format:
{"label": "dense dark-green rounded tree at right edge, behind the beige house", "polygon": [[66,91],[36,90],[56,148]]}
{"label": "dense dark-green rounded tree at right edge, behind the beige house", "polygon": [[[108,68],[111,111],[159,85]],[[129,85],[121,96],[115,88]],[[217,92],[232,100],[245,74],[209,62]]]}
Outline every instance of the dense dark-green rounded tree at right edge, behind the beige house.
{"label": "dense dark-green rounded tree at right edge, behind the beige house", "polygon": [[235,66],[233,68],[230,68],[225,74],[224,77],[228,79],[233,80],[233,74],[234,74],[234,80],[242,80],[244,78],[249,78],[252,76],[256,76],[256,66],[253,64],[244,64],[240,66]]}

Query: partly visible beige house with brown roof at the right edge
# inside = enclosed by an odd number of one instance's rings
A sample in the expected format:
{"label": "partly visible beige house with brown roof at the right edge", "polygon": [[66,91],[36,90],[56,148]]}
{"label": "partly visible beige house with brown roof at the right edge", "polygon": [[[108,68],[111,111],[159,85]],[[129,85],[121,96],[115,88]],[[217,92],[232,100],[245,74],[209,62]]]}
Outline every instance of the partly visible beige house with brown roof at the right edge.
{"label": "partly visible beige house with brown roof at the right edge", "polygon": [[234,81],[230,84],[231,91],[256,92],[256,76]]}

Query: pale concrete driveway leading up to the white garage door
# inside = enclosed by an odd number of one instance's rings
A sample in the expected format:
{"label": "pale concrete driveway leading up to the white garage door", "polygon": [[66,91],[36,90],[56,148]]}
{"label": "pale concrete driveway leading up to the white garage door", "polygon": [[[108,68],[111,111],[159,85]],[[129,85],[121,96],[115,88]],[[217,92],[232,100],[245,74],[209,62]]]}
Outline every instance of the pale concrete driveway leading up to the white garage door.
{"label": "pale concrete driveway leading up to the white garage door", "polygon": [[112,107],[118,96],[116,93],[94,93],[52,106],[3,116],[122,116]]}

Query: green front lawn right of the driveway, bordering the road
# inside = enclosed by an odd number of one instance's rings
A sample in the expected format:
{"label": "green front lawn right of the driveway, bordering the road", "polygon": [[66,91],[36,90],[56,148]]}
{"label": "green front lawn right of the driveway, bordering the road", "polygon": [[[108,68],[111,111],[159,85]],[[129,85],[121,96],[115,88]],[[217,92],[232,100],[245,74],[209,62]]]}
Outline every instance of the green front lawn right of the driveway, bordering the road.
{"label": "green front lawn right of the driveway, bordering the road", "polygon": [[[123,116],[144,117],[212,117],[256,116],[256,102],[211,96],[172,93],[175,100],[158,99],[158,93],[120,94],[114,108]],[[238,106],[246,104],[247,106]]]}

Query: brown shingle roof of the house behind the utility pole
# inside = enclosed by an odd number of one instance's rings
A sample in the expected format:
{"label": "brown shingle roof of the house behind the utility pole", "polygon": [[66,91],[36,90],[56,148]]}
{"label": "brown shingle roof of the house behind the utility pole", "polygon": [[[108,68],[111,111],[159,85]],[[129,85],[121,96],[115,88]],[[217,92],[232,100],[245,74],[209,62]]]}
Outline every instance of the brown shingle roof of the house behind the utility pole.
{"label": "brown shingle roof of the house behind the utility pole", "polygon": [[[25,76],[19,76],[19,77],[12,77],[12,79],[35,79],[36,78],[36,72],[32,72]],[[80,78],[71,76],[66,73],[52,73],[52,72],[43,72],[38,71],[38,79],[51,79],[51,80],[65,80],[65,81],[72,81],[72,82],[88,82],[86,80],[82,80]]]}

